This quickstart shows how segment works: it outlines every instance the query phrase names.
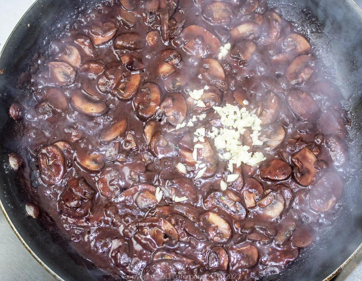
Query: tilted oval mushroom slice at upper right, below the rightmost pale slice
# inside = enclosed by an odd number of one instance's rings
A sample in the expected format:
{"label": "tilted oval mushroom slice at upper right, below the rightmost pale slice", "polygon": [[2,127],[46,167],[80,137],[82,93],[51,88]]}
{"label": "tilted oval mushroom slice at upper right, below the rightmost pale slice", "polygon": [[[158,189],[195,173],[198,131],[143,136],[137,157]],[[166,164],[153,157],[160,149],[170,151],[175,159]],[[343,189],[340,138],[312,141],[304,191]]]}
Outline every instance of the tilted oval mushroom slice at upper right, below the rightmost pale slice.
{"label": "tilted oval mushroom slice at upper right, below the rightmost pale slice", "polygon": [[285,75],[291,85],[303,84],[311,77],[314,69],[314,57],[312,55],[302,55],[292,61]]}

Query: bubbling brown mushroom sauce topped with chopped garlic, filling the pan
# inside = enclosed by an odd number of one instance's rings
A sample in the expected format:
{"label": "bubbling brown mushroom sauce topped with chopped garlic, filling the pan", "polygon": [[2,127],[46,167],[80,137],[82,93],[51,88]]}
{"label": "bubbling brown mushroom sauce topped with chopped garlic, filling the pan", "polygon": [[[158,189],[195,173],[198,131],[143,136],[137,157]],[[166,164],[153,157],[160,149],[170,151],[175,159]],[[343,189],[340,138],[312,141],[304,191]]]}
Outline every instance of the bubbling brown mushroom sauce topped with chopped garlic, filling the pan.
{"label": "bubbling brown mushroom sauce topped with chopped garlic, filling the pan", "polygon": [[348,159],[339,93],[279,12],[120,0],[82,15],[10,108],[28,212],[115,278],[280,272],[330,223]]}

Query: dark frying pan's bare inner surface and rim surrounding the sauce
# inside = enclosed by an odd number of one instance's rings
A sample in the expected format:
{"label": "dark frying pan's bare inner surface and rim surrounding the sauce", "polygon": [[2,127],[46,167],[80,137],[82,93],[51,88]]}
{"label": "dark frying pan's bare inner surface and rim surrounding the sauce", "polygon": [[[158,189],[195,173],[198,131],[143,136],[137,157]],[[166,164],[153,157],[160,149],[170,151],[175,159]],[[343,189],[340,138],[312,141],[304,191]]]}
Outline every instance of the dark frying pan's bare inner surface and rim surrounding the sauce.
{"label": "dark frying pan's bare inner surface and rim surrounding the sauce", "polygon": [[[56,232],[46,231],[25,212],[28,197],[8,164],[8,153],[16,150],[16,124],[8,108],[21,94],[19,75],[42,49],[57,24],[92,7],[96,0],[39,0],[14,30],[0,58],[0,201],[10,225],[31,253],[52,274],[64,280],[109,280],[103,272],[70,248]],[[345,190],[338,217],[325,235],[302,250],[299,258],[278,275],[265,280],[324,280],[344,264],[362,243],[362,13],[350,0],[270,0],[282,8],[283,16],[297,23],[308,35],[317,56],[340,88],[344,108],[351,119],[349,155],[351,168],[345,174]],[[28,27],[30,23],[30,27]],[[26,241],[26,242],[25,242]],[[332,274],[332,275],[331,275]]]}

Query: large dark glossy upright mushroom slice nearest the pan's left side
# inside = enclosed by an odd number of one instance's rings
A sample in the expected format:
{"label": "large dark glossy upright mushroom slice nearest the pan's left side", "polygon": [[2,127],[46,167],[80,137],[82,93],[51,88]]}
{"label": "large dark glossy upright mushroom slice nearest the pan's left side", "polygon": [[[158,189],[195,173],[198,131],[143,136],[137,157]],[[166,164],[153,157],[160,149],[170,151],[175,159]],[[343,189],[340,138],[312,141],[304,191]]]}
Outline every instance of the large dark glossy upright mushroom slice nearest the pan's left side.
{"label": "large dark glossy upright mushroom slice nearest the pan's left side", "polygon": [[38,152],[40,178],[46,185],[60,182],[65,173],[63,153],[54,145],[43,146]]}

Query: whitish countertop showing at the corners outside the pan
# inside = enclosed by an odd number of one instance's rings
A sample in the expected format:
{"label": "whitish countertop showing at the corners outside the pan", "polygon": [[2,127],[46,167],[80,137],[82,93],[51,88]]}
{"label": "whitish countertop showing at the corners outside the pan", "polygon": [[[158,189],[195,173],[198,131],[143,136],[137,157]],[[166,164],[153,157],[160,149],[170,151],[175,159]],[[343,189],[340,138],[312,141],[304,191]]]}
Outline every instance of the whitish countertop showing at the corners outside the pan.
{"label": "whitish countertop showing at the corners outside the pan", "polygon": [[[34,0],[0,0],[0,50]],[[362,7],[362,0],[355,0]],[[26,263],[24,263],[26,260]],[[0,211],[0,280],[54,281],[25,249]],[[333,281],[362,281],[362,251]]]}

